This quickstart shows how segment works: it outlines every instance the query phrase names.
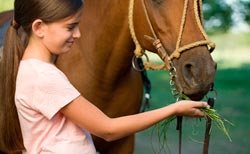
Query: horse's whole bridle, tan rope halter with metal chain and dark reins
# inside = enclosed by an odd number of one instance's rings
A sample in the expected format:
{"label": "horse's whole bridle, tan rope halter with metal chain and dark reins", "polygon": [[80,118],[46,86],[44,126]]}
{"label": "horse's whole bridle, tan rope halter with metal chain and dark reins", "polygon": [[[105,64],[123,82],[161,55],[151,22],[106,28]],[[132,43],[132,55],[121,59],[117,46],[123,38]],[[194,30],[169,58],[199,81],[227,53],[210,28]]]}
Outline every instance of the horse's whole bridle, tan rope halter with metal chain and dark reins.
{"label": "horse's whole bridle, tan rope halter with metal chain and dark reins", "polygon": [[[158,55],[165,62],[165,64],[163,64],[162,66],[159,66],[159,65],[151,64],[149,62],[149,58],[146,55],[144,49],[141,47],[141,45],[136,37],[136,34],[135,34],[134,21],[133,21],[134,0],[130,0],[129,1],[129,13],[128,13],[129,30],[130,30],[131,37],[135,43],[135,50],[134,50],[135,56],[134,56],[133,61],[132,61],[133,67],[136,70],[143,71],[141,69],[136,68],[134,63],[135,63],[135,60],[137,58],[140,58],[144,55],[144,56],[146,56],[146,62],[144,63],[146,69],[156,69],[156,70],[164,69],[164,68],[167,69],[169,71],[170,77],[171,77],[170,88],[171,88],[172,94],[174,97],[176,97],[176,100],[178,101],[180,99],[183,99],[185,97],[185,95],[183,95],[182,93],[180,93],[177,90],[177,87],[176,87],[176,84],[174,81],[174,79],[176,78],[176,68],[174,67],[172,60],[174,58],[176,58],[176,59],[180,58],[182,52],[187,51],[187,50],[192,49],[192,48],[195,48],[195,47],[198,47],[198,46],[206,45],[210,52],[212,52],[215,49],[215,44],[208,39],[208,36],[205,33],[205,30],[203,28],[202,0],[194,0],[194,14],[195,14],[196,23],[198,25],[198,29],[202,33],[204,40],[196,41],[196,42],[184,45],[182,47],[180,46],[181,41],[182,41],[185,23],[186,23],[188,2],[189,2],[189,0],[185,0],[183,15],[182,15],[182,19],[181,19],[181,25],[180,25],[180,31],[179,31],[179,35],[178,35],[178,39],[177,39],[177,43],[176,43],[176,48],[170,55],[167,53],[167,51],[165,50],[165,48],[163,47],[163,45],[161,43],[161,40],[157,37],[157,34],[155,33],[155,30],[152,26],[152,23],[150,21],[149,15],[148,15],[148,11],[147,11],[147,8],[145,5],[145,0],[141,0],[141,1],[142,1],[143,10],[144,10],[144,13],[146,16],[148,26],[150,28],[152,35],[153,35],[153,37],[148,36],[148,35],[144,35],[144,38],[149,40],[153,44],[153,46],[157,50]],[[213,98],[210,98],[209,101],[210,101],[210,103],[214,103]],[[205,132],[205,139],[204,139],[204,146],[203,146],[203,153],[204,154],[208,153],[210,128],[211,128],[211,119],[208,119],[207,123],[206,123],[206,132]],[[182,142],[181,142],[182,117],[181,116],[177,116],[177,128],[176,129],[179,130],[179,154],[181,154],[181,144],[182,144]]]}

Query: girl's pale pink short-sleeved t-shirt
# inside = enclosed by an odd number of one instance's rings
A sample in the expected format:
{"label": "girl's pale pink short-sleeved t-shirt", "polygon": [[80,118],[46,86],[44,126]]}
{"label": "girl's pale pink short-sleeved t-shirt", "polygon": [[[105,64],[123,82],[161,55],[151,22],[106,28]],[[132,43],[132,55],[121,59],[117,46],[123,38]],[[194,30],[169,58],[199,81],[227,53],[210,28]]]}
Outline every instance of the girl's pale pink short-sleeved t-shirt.
{"label": "girl's pale pink short-sleeved t-shirt", "polygon": [[79,95],[55,65],[21,61],[15,103],[24,154],[96,154],[90,134],[58,112]]}

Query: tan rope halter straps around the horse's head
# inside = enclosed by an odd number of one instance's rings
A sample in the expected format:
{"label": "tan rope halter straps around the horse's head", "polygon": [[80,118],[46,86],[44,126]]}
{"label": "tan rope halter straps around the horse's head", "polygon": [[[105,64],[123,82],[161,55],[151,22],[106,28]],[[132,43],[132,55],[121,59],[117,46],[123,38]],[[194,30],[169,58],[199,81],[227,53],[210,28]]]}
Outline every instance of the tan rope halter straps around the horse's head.
{"label": "tan rope halter straps around the horse's head", "polygon": [[149,63],[148,57],[145,54],[145,51],[142,49],[136,34],[135,34],[135,29],[134,29],[134,22],[133,22],[133,10],[134,10],[134,0],[130,0],[129,2],[129,30],[132,36],[132,39],[136,45],[134,54],[135,57],[142,57],[143,55],[146,56],[147,58],[147,62],[145,63],[145,67],[147,69],[163,69],[166,68],[168,71],[170,71],[172,69],[172,60],[174,58],[178,59],[181,56],[181,53],[183,51],[198,47],[198,46],[202,46],[202,45],[206,45],[208,47],[208,50],[210,52],[212,52],[215,48],[215,44],[213,42],[211,42],[208,39],[207,34],[204,31],[203,28],[203,22],[201,21],[201,19],[203,19],[203,14],[202,12],[199,10],[202,10],[202,0],[194,0],[194,13],[195,13],[195,20],[196,23],[198,25],[199,31],[202,33],[204,40],[201,41],[197,41],[194,43],[190,43],[184,46],[180,46],[181,44],[181,40],[182,40],[182,36],[183,36],[183,31],[184,31],[184,27],[185,27],[185,23],[186,23],[186,16],[187,16],[187,10],[188,10],[188,2],[189,0],[185,0],[185,4],[184,4],[184,9],[183,9],[183,15],[182,15],[182,20],[181,20],[181,26],[180,26],[180,31],[179,31],[179,35],[178,35],[178,40],[176,43],[176,48],[175,50],[172,52],[172,54],[168,54],[167,51],[165,50],[165,48],[163,47],[161,40],[157,37],[157,34],[155,33],[155,30],[152,26],[152,23],[150,21],[149,15],[148,15],[148,11],[145,5],[145,0],[141,0],[142,1],[142,5],[143,5],[143,10],[147,19],[147,23],[148,26],[151,30],[151,33],[153,34],[153,37],[148,36],[148,35],[144,35],[145,39],[149,40],[153,46],[155,47],[155,49],[158,52],[158,55],[161,57],[161,59],[165,62],[164,66],[157,66],[155,67],[155,65],[152,65]]}

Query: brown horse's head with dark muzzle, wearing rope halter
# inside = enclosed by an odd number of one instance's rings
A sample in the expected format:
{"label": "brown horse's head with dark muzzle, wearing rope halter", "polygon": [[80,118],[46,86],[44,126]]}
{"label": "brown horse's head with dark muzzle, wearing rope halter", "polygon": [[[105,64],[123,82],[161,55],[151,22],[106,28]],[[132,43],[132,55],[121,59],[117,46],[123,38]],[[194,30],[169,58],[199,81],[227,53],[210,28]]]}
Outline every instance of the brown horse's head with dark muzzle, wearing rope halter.
{"label": "brown horse's head with dark muzzle, wearing rope halter", "polygon": [[135,44],[157,53],[166,68],[174,71],[180,93],[202,99],[216,71],[210,55],[215,45],[203,29],[202,1],[131,0],[129,11]]}

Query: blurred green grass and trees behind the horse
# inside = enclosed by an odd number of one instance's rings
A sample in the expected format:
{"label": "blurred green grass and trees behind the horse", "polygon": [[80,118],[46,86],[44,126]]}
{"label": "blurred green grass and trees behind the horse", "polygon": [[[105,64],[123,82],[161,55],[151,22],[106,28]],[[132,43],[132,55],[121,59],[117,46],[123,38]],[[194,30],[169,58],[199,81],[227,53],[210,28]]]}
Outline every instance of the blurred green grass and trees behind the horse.
{"label": "blurred green grass and trees behind the horse", "polygon": [[[14,0],[0,0],[0,12],[13,8]],[[216,49],[212,53],[218,63],[215,109],[234,126],[226,127],[232,142],[213,125],[209,153],[250,153],[250,1],[204,0],[206,31]],[[155,55],[150,56],[159,62]],[[148,110],[175,102],[165,71],[148,71],[152,83],[151,106]],[[202,153],[205,121],[185,118],[183,122],[183,154]],[[167,131],[167,140],[160,141],[152,127],[136,134],[135,154],[177,154],[178,132],[175,122]],[[161,145],[160,143],[163,143]],[[163,147],[164,146],[164,147]],[[163,148],[163,149],[162,149]]]}

